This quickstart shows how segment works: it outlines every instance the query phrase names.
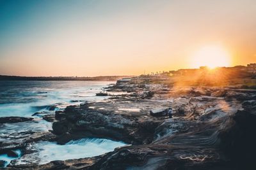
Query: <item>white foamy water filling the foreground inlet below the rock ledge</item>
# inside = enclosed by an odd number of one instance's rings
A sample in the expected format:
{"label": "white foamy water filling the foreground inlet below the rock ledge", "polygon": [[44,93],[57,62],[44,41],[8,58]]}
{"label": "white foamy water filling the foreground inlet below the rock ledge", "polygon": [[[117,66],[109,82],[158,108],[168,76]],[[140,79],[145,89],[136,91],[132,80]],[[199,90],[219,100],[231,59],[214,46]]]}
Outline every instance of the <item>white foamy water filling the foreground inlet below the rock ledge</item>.
{"label": "white foamy water filling the foreground inlet below the rock ledge", "polygon": [[52,160],[79,159],[94,157],[113,151],[115,148],[126,145],[120,141],[109,139],[83,138],[70,141],[66,145],[58,145],[55,142],[41,141],[33,144],[31,148],[38,152],[24,155],[17,162],[19,164],[36,163],[46,164]]}

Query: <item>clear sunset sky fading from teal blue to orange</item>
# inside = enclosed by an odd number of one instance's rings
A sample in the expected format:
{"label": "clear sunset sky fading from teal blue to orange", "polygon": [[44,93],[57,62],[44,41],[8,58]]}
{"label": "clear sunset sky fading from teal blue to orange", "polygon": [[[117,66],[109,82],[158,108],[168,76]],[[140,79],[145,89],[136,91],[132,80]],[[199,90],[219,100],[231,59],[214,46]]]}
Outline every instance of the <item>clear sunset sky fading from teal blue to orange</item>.
{"label": "clear sunset sky fading from teal blue to orange", "polygon": [[[246,65],[256,62],[255,29],[255,0],[0,0],[0,74],[192,68],[205,46],[228,53],[228,66]],[[211,53],[202,64],[215,60]]]}

